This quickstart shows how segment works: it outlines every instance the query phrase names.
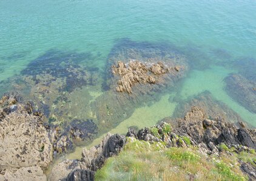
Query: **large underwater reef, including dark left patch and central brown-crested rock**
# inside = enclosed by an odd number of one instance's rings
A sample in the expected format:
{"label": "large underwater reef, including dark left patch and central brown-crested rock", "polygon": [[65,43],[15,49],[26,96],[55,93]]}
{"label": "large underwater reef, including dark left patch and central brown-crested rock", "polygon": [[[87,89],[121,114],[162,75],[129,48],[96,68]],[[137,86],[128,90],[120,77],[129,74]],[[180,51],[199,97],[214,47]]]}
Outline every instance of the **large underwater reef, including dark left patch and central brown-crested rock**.
{"label": "large underwater reef, including dark left patch and central brown-crested rock", "polygon": [[[23,101],[32,101],[33,109],[42,112],[49,124],[61,127],[62,133],[72,132],[73,139],[83,135],[74,142],[83,145],[129,118],[137,107],[160,100],[188,71],[186,57],[161,43],[122,39],[110,51],[103,71],[89,66],[93,59],[90,53],[50,49],[19,75],[3,81],[0,90],[18,92]],[[120,61],[127,68],[121,70]],[[116,74],[113,67],[126,74]],[[84,133],[72,124],[87,120],[81,125],[87,127]]]}

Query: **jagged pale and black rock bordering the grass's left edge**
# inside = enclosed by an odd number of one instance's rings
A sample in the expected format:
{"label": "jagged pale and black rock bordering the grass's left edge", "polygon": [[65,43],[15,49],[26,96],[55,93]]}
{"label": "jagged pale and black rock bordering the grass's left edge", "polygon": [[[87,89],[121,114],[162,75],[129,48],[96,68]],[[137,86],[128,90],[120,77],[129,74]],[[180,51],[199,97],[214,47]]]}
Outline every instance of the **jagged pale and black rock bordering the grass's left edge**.
{"label": "jagged pale and black rock bordering the grass's left edge", "polygon": [[[58,165],[55,165],[49,176],[49,180],[93,180],[94,172],[103,167],[108,157],[120,153],[124,147],[125,141],[125,136],[107,133],[101,141],[101,144],[89,150],[83,148],[81,160],[66,159]],[[56,172],[60,174],[56,176]]]}

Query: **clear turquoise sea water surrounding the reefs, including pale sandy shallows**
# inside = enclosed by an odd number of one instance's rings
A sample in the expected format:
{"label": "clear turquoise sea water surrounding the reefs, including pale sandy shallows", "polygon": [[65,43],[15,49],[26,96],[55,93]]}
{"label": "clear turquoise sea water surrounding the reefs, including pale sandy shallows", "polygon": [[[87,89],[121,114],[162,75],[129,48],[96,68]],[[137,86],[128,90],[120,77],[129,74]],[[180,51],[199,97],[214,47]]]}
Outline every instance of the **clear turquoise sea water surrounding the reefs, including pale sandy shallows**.
{"label": "clear turquoise sea water surrounding the reefs, including pale sandy shallows", "polygon": [[[224,91],[224,78],[239,69],[236,60],[256,62],[255,10],[256,1],[2,0],[0,82],[19,75],[30,62],[52,49],[63,54],[89,54],[83,63],[104,72],[110,51],[120,40],[167,43],[189,59],[189,74],[178,92],[170,90],[157,107],[136,110],[127,118],[130,125],[136,124],[134,120],[143,112],[159,113],[143,118],[149,125],[171,116],[177,102],[166,100],[173,94],[186,100],[209,90],[216,100],[256,126],[256,114]],[[119,129],[122,133],[129,127],[125,121],[120,124],[124,125]]]}

